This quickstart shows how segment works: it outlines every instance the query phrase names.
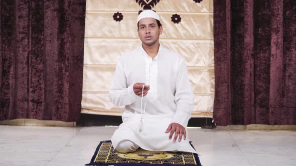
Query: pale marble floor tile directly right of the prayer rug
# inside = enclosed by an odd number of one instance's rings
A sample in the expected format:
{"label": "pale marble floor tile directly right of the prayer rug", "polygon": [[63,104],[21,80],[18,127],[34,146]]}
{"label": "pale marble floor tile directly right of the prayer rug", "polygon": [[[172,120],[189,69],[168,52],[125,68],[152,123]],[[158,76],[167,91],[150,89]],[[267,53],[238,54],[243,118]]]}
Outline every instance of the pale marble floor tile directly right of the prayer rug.
{"label": "pale marble floor tile directly right of the prayer rug", "polygon": [[215,129],[188,132],[203,165],[250,165],[229,132]]}

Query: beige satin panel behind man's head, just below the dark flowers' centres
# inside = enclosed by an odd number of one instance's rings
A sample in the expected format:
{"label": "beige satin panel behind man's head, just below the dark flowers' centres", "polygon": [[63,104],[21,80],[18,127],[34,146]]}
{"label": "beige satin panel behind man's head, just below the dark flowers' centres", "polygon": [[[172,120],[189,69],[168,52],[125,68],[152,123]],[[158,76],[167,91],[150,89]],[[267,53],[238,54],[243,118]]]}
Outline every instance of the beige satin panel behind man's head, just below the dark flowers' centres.
{"label": "beige satin panel behind man's head, just below the dark flowers' centres", "polygon": [[[86,38],[137,38],[137,12],[124,13],[120,22],[113,20],[113,12],[87,11],[85,18]],[[213,39],[212,14],[180,14],[180,23],[171,21],[171,13],[160,14],[164,31],[160,38],[165,39]]]}

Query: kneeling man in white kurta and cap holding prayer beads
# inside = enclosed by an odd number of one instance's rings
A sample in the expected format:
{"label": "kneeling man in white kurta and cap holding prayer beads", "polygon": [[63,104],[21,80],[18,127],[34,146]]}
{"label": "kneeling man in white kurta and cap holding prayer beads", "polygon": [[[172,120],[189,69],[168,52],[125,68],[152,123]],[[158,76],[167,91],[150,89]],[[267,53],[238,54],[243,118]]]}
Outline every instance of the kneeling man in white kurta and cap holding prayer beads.
{"label": "kneeling man in white kurta and cap holding prayer beads", "polygon": [[142,11],[137,26],[141,47],[120,56],[109,92],[114,105],[125,105],[112,144],[122,153],[139,147],[196,153],[186,130],[193,92],[184,58],[160,45],[163,26],[155,11]]}

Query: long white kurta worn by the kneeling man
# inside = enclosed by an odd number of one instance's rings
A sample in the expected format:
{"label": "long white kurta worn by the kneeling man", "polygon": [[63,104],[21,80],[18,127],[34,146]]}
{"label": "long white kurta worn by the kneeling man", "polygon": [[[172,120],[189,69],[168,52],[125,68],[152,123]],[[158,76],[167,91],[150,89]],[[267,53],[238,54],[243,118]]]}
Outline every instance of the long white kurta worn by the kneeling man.
{"label": "long white kurta worn by the kneeling man", "polygon": [[[133,84],[137,82],[150,85],[143,97],[143,102],[146,100],[143,116],[141,97],[133,92]],[[110,101],[116,106],[125,105],[121,111],[123,123],[111,137],[114,148],[121,140],[128,139],[146,150],[196,153],[187,130],[187,138],[181,142],[179,137],[174,142],[174,135],[170,140],[170,132],[165,133],[172,122],[186,128],[193,111],[193,97],[184,58],[177,52],[160,46],[152,59],[140,47],[121,55],[110,88]]]}

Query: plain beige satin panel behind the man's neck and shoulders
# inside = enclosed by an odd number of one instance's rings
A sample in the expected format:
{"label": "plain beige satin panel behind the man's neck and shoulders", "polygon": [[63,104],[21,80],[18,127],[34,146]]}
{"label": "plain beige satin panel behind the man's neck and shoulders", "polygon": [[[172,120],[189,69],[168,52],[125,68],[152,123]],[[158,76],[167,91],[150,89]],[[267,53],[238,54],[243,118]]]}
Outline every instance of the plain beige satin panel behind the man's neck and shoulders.
{"label": "plain beige satin panel behind the man's neck and shoulders", "polygon": [[[212,41],[162,39],[160,42],[162,46],[183,55],[187,66],[214,67]],[[140,39],[85,38],[84,64],[116,64],[122,52],[140,46]]]}

